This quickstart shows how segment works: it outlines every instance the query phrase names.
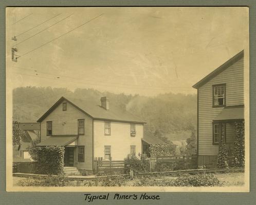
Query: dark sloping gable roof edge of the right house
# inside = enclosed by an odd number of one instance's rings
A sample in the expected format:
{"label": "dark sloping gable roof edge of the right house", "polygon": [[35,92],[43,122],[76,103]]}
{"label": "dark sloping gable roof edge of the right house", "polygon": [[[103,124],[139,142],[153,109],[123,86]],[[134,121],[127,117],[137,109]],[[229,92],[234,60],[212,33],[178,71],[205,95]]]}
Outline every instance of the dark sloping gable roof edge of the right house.
{"label": "dark sloping gable roof edge of the right house", "polygon": [[231,66],[232,64],[234,64],[236,61],[240,60],[242,57],[244,57],[244,50],[240,51],[239,53],[237,53],[235,56],[233,56],[232,58],[230,58],[228,61],[226,61],[223,65],[221,65],[220,67],[218,67],[217,69],[215,69],[214,71],[212,71],[210,74],[208,74],[207,76],[205,76],[203,79],[201,79],[200,81],[198,81],[195,85],[193,85],[193,88],[200,88],[201,86],[203,86],[204,84],[206,84],[209,80],[211,80],[213,77],[215,77],[216,75],[220,74],[221,72],[223,72],[224,70],[226,70],[229,66]]}

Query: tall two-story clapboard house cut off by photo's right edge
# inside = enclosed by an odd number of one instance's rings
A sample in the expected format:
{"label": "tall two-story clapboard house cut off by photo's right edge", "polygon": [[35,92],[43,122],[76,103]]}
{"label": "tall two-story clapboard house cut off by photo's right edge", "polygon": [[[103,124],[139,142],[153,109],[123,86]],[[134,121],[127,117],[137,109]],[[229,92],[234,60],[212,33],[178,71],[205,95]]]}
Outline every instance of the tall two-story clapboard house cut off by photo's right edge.
{"label": "tall two-story clapboard house cut off by photo's right edge", "polygon": [[215,167],[221,140],[232,155],[234,122],[244,120],[244,51],[198,81],[198,165]]}

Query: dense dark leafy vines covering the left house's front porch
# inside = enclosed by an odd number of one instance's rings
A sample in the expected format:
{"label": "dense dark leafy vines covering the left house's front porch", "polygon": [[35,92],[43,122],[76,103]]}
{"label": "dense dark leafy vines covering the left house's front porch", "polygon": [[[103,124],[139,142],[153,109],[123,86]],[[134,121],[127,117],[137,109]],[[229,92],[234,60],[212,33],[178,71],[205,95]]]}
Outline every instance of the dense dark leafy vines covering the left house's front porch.
{"label": "dense dark leafy vines covering the left house's front porch", "polygon": [[33,147],[29,150],[32,159],[38,161],[36,173],[63,174],[65,148],[61,146]]}

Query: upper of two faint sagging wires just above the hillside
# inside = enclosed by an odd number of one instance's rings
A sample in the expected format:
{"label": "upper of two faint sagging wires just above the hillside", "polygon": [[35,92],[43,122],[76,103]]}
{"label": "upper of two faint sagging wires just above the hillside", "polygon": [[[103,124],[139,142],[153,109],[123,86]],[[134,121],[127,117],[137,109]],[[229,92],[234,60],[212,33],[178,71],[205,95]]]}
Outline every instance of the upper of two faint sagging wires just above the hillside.
{"label": "upper of two faint sagging wires just above the hillside", "polygon": [[[13,66],[13,68],[22,69],[22,70],[28,70],[28,71],[33,71],[33,72],[36,72],[36,73],[43,73],[43,74],[52,75],[52,76],[55,76],[55,77],[66,77],[66,78],[72,78],[72,79],[77,79],[77,80],[86,80],[86,81],[93,81],[93,82],[95,82],[95,80],[92,80],[92,79],[69,77],[69,76],[65,76],[65,75],[54,75],[54,74],[51,74],[51,73],[40,72],[40,71],[37,71],[37,70],[31,70],[31,69],[21,68],[21,67],[16,67],[16,66]],[[111,82],[106,82],[106,81],[98,81],[98,83],[112,84],[112,85],[134,86],[134,87],[145,87],[145,86],[142,86],[142,85],[119,84],[119,83],[111,83]],[[170,89],[170,87],[155,87],[155,86],[147,86],[147,87],[149,87],[149,88],[160,88],[160,89],[165,89],[165,88]],[[172,87],[172,88],[175,89],[175,88],[182,88],[182,87]],[[185,88],[185,87],[184,87],[184,88]]]}

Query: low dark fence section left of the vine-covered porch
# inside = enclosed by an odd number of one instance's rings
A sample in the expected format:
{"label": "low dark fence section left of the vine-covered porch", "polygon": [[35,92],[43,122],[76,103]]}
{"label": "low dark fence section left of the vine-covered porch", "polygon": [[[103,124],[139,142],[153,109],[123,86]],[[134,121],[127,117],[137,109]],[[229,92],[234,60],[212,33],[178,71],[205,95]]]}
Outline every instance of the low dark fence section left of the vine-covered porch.
{"label": "low dark fence section left of the vine-covered porch", "polygon": [[23,161],[12,163],[12,173],[36,173],[38,163],[36,161]]}

